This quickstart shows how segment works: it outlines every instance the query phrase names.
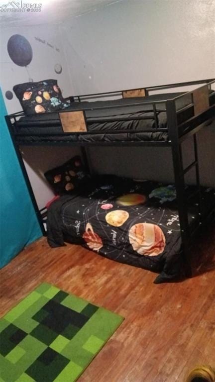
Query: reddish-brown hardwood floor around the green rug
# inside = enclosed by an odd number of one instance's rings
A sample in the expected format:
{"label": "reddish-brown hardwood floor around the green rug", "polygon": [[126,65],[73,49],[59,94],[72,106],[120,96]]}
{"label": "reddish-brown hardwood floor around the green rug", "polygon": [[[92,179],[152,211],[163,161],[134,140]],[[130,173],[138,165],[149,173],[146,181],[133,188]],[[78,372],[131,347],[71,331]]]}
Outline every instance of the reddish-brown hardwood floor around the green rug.
{"label": "reddish-brown hardwood floor around the green rug", "polygon": [[162,285],[148,271],[41,238],[0,271],[0,315],[39,283],[54,284],[125,317],[79,382],[183,382],[197,364],[215,365],[214,261],[215,229],[195,245],[194,277]]}

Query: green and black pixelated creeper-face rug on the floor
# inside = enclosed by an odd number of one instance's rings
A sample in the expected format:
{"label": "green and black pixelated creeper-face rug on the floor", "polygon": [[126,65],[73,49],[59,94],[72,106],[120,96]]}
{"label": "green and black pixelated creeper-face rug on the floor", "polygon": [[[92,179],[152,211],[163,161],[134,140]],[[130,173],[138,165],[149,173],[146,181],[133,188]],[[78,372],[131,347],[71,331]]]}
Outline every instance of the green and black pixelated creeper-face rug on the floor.
{"label": "green and black pixelated creeper-face rug on the floor", "polygon": [[0,382],[72,382],[123,318],[41,284],[0,320]]}

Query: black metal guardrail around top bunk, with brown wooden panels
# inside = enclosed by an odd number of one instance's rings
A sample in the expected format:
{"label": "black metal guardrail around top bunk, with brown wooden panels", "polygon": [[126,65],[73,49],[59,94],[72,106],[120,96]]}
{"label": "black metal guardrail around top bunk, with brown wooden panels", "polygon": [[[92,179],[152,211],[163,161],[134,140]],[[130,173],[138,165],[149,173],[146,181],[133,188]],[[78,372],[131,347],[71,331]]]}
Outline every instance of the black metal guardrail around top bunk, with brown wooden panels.
{"label": "black metal guardrail around top bunk, with brown wooden panels", "polygon": [[[199,85],[204,84],[203,86],[196,88],[190,92],[185,92],[182,95],[178,95],[171,99],[164,99],[164,100],[154,100],[154,101],[140,101],[140,102],[126,102],[126,104],[116,104],[116,105],[104,105],[104,106],[91,106],[91,107],[85,107],[84,109],[82,107],[76,108],[74,111],[71,110],[62,110],[59,112],[59,119],[61,122],[62,132],[56,132],[54,133],[55,136],[65,136],[65,135],[71,135],[71,134],[89,134],[89,125],[92,123],[92,117],[87,117],[86,112],[88,111],[95,111],[95,110],[114,110],[115,108],[119,108],[123,110],[124,107],[136,107],[136,106],[148,106],[148,109],[144,108],[143,115],[132,115],[132,116],[126,116],[123,114],[123,116],[116,117],[111,116],[108,117],[108,122],[114,122],[114,121],[134,121],[134,120],[153,120],[154,125],[152,128],[143,128],[138,129],[138,133],[151,133],[151,132],[168,132],[169,137],[171,137],[173,131],[172,131],[172,125],[170,123],[170,120],[168,118],[169,113],[174,113],[176,118],[176,124],[174,124],[174,131],[177,133],[178,138],[183,139],[183,135],[192,132],[194,128],[195,131],[193,133],[198,131],[198,126],[201,125],[205,120],[210,119],[215,115],[215,91],[212,91],[212,85],[215,83],[214,80],[201,80],[201,81],[193,81],[193,82],[187,82],[187,83],[180,83],[180,84],[172,84],[172,85],[162,85],[157,87],[150,87],[150,88],[140,88],[140,89],[132,89],[132,90],[125,90],[120,92],[108,92],[108,93],[98,93],[98,94],[90,94],[90,95],[78,95],[73,97],[77,102],[81,102],[85,99],[91,99],[91,98],[104,98],[104,97],[115,97],[116,95],[120,95],[123,98],[123,95],[126,93],[126,96],[129,95],[129,97],[138,97],[138,96],[144,96],[148,95],[151,91],[158,91],[158,90],[166,90],[166,89],[174,89],[179,87],[185,87],[185,86],[191,86],[191,85]],[[143,92],[142,92],[143,91]],[[129,98],[127,97],[127,98]],[[186,104],[184,107],[178,108],[177,102],[178,100],[182,99],[183,97],[190,97],[190,103]],[[70,97],[68,97],[70,98]],[[159,107],[161,105],[161,108]],[[190,110],[190,112],[186,115],[184,115],[184,112]],[[159,112],[166,112],[167,113],[167,127],[159,127],[158,123],[158,114]],[[146,114],[147,115],[144,115]],[[51,118],[51,114],[50,118]],[[149,115],[148,115],[149,114]],[[19,119],[21,116],[23,116],[23,112],[13,113],[9,116],[6,116],[6,119],[10,119],[11,127],[13,129],[13,133],[15,135],[31,135],[31,133],[21,133],[19,132],[19,129],[15,126],[15,122],[17,119]],[[101,116],[96,118],[96,122],[104,122],[106,117]],[[59,122],[58,122],[59,123]],[[101,132],[101,131],[100,131]],[[116,130],[105,130],[103,131],[106,134],[119,134],[119,133],[136,133],[137,130],[129,128],[129,129],[116,129]],[[90,131],[90,134],[98,134],[97,131]],[[39,133],[34,133],[34,136],[40,135]],[[49,133],[43,133],[42,135],[48,136]],[[157,142],[158,145],[164,144],[168,145],[171,144],[171,138],[168,140],[168,142]],[[132,139],[131,139],[132,142]],[[94,142],[95,143],[95,142]]]}

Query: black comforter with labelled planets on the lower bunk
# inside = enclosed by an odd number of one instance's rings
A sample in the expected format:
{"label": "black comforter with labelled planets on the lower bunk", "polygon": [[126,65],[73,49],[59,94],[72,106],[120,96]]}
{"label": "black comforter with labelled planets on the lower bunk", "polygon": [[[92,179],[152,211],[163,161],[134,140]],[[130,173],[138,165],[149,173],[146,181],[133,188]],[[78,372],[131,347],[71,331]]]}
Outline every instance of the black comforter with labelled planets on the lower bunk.
{"label": "black comforter with labelled planets on the lower bunk", "polygon": [[[194,192],[188,187],[186,192]],[[215,190],[203,189],[204,211],[215,206]],[[197,203],[189,222],[195,224]],[[79,195],[65,195],[48,210],[51,247],[81,244],[111,260],[151,270],[156,283],[176,278],[181,270],[181,236],[173,185],[101,176]]]}

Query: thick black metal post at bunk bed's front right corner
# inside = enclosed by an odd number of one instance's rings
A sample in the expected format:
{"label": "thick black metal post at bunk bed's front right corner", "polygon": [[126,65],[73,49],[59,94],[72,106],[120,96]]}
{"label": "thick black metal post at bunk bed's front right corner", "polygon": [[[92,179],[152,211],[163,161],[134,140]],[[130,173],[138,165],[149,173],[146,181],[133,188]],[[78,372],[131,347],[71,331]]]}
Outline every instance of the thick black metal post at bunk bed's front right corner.
{"label": "thick black metal post at bunk bed's front right corner", "polygon": [[189,259],[189,237],[190,229],[188,223],[188,205],[185,195],[184,169],[182,159],[182,149],[178,134],[176,104],[172,99],[166,102],[169,143],[172,149],[173,168],[176,186],[176,196],[178,202],[179,222],[181,228],[183,258],[185,263],[186,277],[192,277],[192,268]]}

